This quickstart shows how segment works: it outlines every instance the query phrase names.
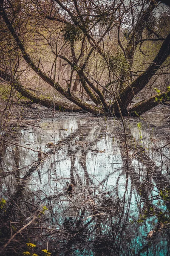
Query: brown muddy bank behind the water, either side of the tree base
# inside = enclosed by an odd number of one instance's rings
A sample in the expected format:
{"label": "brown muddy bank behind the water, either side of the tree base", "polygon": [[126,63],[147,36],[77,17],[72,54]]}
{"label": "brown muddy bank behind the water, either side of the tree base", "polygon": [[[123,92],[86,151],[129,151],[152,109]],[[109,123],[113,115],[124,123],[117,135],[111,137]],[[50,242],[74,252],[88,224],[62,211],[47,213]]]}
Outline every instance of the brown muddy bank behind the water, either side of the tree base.
{"label": "brown muddy bank behind the water, either side of the tree base", "polygon": [[[6,111],[5,115],[1,117],[3,121],[7,118],[8,125],[15,126],[19,125],[18,120],[28,120],[28,119],[38,119],[38,121],[52,121],[57,119],[69,119],[72,117],[81,118],[81,117],[91,117],[93,114],[85,111],[80,111],[78,113],[74,112],[64,112],[64,111],[54,111],[51,108],[45,108],[41,105],[32,104],[32,105],[12,105],[10,111]],[[160,119],[164,119],[164,125],[168,125],[170,122],[170,107],[159,105],[156,108],[153,108],[151,111],[146,112],[142,115],[142,117],[148,122],[153,121],[153,125],[155,122],[160,122]],[[105,118],[101,116],[101,118]],[[114,116],[113,116],[114,118]],[[112,119],[112,118],[111,118]],[[118,119],[118,118],[116,118]],[[127,117],[125,117],[127,119]]]}

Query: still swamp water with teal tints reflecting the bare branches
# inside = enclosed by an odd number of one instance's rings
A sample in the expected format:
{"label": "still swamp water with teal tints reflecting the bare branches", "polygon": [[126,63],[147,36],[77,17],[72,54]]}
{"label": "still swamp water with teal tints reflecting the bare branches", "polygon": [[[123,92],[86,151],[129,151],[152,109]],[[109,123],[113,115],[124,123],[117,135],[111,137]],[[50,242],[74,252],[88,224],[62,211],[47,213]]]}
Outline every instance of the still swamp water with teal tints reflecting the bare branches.
{"label": "still swamp water with teal tints reflecting the bare branches", "polygon": [[1,246],[37,217],[2,255],[170,255],[170,127],[166,115],[144,118],[125,121],[128,170],[121,120],[65,116],[20,129],[16,144],[48,156],[1,152]]}

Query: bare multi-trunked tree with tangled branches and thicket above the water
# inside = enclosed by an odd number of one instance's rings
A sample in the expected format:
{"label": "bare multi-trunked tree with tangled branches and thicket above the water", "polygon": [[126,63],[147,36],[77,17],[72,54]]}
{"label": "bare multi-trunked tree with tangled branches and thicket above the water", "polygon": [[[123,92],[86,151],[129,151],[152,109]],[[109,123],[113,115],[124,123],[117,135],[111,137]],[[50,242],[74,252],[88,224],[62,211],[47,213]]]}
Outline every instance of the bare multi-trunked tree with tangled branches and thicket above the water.
{"label": "bare multi-trunked tree with tangled branches and thicket above the water", "polygon": [[[156,95],[152,90],[130,106],[153,77],[161,81],[169,74],[170,27],[162,32],[156,24],[164,12],[155,0],[3,0],[0,77],[34,102],[56,109],[141,115],[170,99],[170,87],[156,88]],[[44,87],[50,85],[74,107],[30,95],[26,84],[21,86],[25,74],[45,81]]]}

